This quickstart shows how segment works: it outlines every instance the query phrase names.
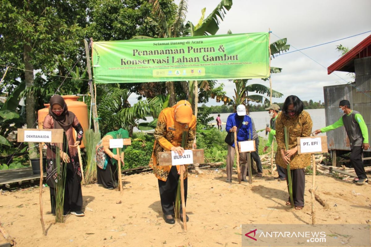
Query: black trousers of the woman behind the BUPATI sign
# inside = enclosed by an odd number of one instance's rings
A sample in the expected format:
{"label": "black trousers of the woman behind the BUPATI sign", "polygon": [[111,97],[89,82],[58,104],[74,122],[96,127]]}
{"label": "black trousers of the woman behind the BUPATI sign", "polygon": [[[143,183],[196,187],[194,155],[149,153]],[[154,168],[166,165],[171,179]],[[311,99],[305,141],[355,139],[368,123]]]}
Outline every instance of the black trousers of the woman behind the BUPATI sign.
{"label": "black trousers of the woman behind the BUPATI sign", "polygon": [[[175,166],[171,167],[170,174],[166,182],[158,180],[158,188],[160,190],[162,212],[165,215],[174,214],[175,196],[177,193],[179,174]],[[184,201],[187,203],[187,187],[188,178],[184,179]],[[180,204],[180,209],[182,205]],[[181,212],[181,211],[180,211]]]}

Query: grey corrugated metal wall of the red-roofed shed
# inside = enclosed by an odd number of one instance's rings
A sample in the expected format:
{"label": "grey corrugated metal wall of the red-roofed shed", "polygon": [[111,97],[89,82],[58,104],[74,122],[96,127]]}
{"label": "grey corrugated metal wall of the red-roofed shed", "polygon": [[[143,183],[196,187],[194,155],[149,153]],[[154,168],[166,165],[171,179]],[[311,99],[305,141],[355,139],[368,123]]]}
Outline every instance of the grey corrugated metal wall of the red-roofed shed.
{"label": "grey corrugated metal wall of the red-roofed shed", "polygon": [[[338,109],[339,101],[349,100],[351,108],[362,114],[371,138],[371,57],[355,59],[355,71],[355,83],[324,87],[326,126],[342,116]],[[326,135],[329,150],[350,150],[345,128],[337,128]]]}

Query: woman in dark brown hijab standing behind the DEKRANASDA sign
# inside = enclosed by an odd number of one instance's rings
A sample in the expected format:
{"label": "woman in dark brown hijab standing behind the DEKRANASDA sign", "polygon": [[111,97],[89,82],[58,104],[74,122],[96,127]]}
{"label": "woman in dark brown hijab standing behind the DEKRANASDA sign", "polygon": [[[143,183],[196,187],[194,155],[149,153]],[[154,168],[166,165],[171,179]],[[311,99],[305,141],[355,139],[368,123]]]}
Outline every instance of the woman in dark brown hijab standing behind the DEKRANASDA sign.
{"label": "woman in dark brown hijab standing behind the DEKRANASDA sign", "polygon": [[[50,187],[50,203],[52,204],[52,214],[55,214],[55,186],[60,174],[57,174],[56,150],[59,148],[61,160],[66,165],[66,183],[63,201],[63,216],[69,212],[76,216],[84,216],[82,209],[81,192],[81,169],[78,157],[77,146],[81,144],[83,129],[79,120],[68,110],[65,100],[60,95],[50,98],[49,114],[45,117],[43,128],[62,128],[64,130],[64,141],[62,143],[47,144],[47,176],[46,182]],[[76,141],[73,139],[73,129],[76,130]],[[63,168],[64,169],[64,168]],[[63,174],[62,174],[63,176]]]}

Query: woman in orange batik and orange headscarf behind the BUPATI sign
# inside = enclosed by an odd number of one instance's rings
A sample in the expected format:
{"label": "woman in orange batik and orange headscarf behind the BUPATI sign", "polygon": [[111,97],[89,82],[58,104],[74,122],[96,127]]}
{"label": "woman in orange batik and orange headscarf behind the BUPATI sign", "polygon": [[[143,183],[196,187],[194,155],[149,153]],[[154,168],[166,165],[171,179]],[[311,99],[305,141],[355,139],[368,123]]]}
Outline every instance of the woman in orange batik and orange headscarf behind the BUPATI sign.
{"label": "woman in orange batik and orange headscarf behind the BUPATI sign", "polygon": [[[183,131],[187,131],[184,148],[181,147]],[[149,166],[158,179],[164,220],[168,224],[174,224],[175,192],[178,186],[180,169],[184,169],[184,197],[185,202],[187,202],[188,166],[159,166],[158,153],[174,151],[182,155],[184,149],[195,148],[193,143],[196,137],[196,117],[193,115],[191,104],[186,100],[181,100],[175,106],[162,110],[158,116],[154,137],[155,143]],[[186,218],[188,221],[188,216]],[[182,214],[180,220],[183,221]]]}

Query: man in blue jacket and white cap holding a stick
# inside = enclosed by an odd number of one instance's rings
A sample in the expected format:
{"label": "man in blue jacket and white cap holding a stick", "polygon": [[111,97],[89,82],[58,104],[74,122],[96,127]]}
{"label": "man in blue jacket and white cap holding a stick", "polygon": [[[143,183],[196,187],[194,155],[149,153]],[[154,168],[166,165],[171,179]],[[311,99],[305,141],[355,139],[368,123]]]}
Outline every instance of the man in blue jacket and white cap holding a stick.
{"label": "man in blue jacket and white cap holding a stick", "polygon": [[[246,115],[246,107],[244,105],[238,105],[236,108],[236,113],[232,113],[228,116],[226,124],[227,132],[237,132],[237,142],[247,141],[252,138],[252,123],[249,116]],[[234,143],[232,146],[228,146],[227,154],[227,183],[232,183],[232,169],[234,163],[234,154],[236,150],[234,149]],[[240,153],[240,170],[242,181],[247,182],[247,154],[250,153]]]}

